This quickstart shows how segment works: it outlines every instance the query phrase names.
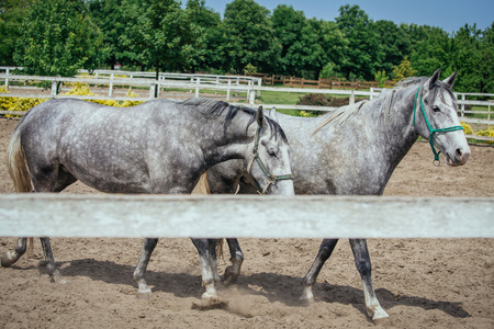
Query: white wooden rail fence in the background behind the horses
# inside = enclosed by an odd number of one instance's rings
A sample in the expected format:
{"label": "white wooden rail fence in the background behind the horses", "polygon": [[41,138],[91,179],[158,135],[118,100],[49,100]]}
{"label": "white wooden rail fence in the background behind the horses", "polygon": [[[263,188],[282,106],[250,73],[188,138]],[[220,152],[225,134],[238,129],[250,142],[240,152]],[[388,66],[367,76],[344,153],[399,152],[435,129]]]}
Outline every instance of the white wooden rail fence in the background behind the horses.
{"label": "white wooden rail fence in the background behind the horses", "polygon": [[[49,93],[2,93],[1,97],[24,97],[24,98],[78,98],[78,99],[91,99],[91,100],[131,100],[131,101],[147,101],[155,98],[155,90],[157,89],[157,94],[162,89],[167,88],[178,88],[195,90],[195,97],[199,97],[200,90],[214,90],[214,91],[226,91],[226,101],[229,102],[232,92],[245,92],[247,95],[247,101],[250,106],[254,106],[256,93],[260,94],[261,91],[277,91],[277,92],[295,92],[295,93],[324,93],[324,94],[338,94],[348,95],[350,98],[350,103],[355,102],[356,97],[374,98],[379,95],[381,89],[370,89],[370,91],[358,91],[358,90],[332,90],[332,89],[297,89],[297,88],[278,88],[278,87],[262,87],[261,79],[249,78],[242,76],[212,76],[212,75],[184,75],[184,73],[160,73],[159,79],[156,80],[156,73],[154,72],[133,72],[133,71],[111,71],[111,70],[97,70],[92,76],[78,76],[76,78],[63,78],[63,77],[34,77],[34,76],[20,76],[12,75],[11,68],[0,67],[0,71],[5,71],[5,73],[0,73],[0,81],[4,81],[4,86],[9,89],[9,81],[50,81],[52,89]],[[85,70],[80,70],[85,72]],[[117,75],[126,76],[127,78],[117,77]],[[93,86],[108,86],[108,95],[64,95],[57,93],[57,83],[87,83]],[[148,88],[149,93],[146,97],[127,98],[127,97],[116,97],[114,95],[114,88],[116,86],[124,87],[142,87]],[[18,87],[15,87],[18,88]],[[19,87],[20,89],[29,89],[30,87]],[[33,88],[33,87],[31,87]],[[10,89],[13,89],[12,86]],[[37,88],[34,88],[37,89]],[[123,92],[123,91],[120,91]],[[486,98],[494,98],[494,94],[481,94],[481,93],[454,93],[458,99],[458,104],[460,105],[459,115],[461,121],[470,124],[486,124],[494,125],[494,120],[491,117],[491,107],[494,106],[494,100],[489,101],[472,101],[467,100],[467,97],[483,95]],[[234,103],[235,104],[235,103]],[[276,106],[277,109],[294,109],[304,111],[334,111],[335,107],[328,106],[308,106],[308,105],[293,105],[293,104],[263,104],[267,109]],[[465,105],[480,105],[486,106],[487,111],[471,111],[465,110]],[[465,114],[478,114],[483,113],[486,118],[472,118],[465,117]],[[0,114],[18,114],[8,111],[0,111]],[[494,114],[493,114],[494,116]],[[482,136],[467,136],[469,138],[483,139],[483,140],[494,140],[493,137],[482,137]]]}

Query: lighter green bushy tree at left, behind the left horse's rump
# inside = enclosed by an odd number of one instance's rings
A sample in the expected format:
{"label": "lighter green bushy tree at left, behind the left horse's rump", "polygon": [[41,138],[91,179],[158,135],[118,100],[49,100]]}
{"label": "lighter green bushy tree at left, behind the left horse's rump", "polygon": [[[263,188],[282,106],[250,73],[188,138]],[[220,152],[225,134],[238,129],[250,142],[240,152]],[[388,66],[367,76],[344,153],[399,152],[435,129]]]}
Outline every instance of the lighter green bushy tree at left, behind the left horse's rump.
{"label": "lighter green bushy tree at left, behind the left horse's rump", "polygon": [[98,66],[101,42],[82,0],[34,1],[15,43],[14,61],[30,75],[69,77]]}

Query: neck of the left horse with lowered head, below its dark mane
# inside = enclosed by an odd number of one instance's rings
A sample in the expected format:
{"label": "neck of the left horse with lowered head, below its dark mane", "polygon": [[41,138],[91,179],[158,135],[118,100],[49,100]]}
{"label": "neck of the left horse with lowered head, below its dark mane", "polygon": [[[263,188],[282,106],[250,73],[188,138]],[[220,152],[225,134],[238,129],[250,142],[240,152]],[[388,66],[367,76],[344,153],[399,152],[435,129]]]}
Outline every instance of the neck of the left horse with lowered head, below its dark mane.
{"label": "neck of the left horse with lowered head, below its dark mane", "polygon": [[211,131],[214,133],[213,138],[203,145],[204,159],[209,167],[232,159],[247,159],[257,128],[254,123],[247,129],[248,122],[248,114],[238,113],[226,131],[223,122]]}

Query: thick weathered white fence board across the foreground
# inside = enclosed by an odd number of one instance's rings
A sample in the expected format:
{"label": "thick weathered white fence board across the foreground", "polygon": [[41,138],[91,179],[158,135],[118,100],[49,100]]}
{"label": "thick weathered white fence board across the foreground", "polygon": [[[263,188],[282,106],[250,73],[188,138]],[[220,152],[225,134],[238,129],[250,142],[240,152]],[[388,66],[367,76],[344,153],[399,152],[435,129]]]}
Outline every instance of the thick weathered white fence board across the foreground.
{"label": "thick weathered white fence board across the foreground", "polygon": [[0,236],[494,238],[494,198],[0,195]]}

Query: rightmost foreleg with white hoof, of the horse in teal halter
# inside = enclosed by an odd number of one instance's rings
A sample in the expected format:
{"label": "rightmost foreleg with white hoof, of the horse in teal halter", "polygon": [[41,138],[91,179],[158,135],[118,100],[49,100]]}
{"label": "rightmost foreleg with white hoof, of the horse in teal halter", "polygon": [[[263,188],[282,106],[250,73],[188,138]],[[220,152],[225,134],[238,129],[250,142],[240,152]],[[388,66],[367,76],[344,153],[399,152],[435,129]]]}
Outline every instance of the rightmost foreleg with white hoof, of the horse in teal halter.
{"label": "rightmost foreleg with white hoof, of the horse in teal halter", "polygon": [[367,314],[374,321],[388,318],[389,315],[379,304],[372,285],[371,262],[366,239],[350,239],[350,246],[353,252],[355,264],[362,280]]}

